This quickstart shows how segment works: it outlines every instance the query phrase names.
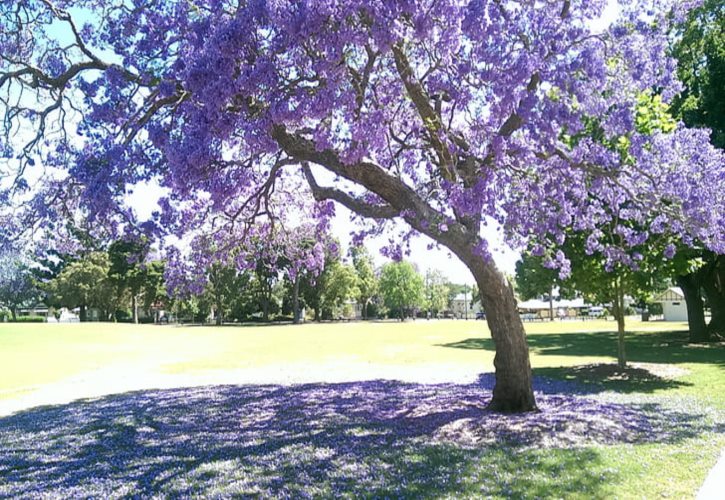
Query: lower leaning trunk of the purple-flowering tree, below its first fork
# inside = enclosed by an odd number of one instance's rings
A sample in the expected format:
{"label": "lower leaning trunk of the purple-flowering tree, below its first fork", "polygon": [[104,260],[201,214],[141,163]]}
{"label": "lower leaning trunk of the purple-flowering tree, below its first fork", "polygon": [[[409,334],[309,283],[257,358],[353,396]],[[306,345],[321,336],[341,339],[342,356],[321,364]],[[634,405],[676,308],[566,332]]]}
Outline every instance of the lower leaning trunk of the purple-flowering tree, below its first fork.
{"label": "lower leaning trunk of the purple-flowering tree, below its first fork", "polygon": [[467,253],[465,249],[457,254],[476,280],[496,346],[493,360],[496,385],[488,408],[500,412],[535,411],[529,346],[513,288],[493,261]]}

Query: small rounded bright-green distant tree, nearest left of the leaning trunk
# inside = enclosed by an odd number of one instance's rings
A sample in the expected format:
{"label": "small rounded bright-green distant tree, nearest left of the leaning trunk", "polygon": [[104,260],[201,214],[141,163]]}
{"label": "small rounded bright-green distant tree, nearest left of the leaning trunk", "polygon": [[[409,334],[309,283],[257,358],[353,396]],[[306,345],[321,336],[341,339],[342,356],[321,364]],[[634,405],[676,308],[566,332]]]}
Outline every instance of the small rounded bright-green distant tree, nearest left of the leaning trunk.
{"label": "small rounded bright-green distant tree, nearest left of the leaning trunk", "polygon": [[385,306],[397,313],[400,321],[424,305],[424,283],[410,262],[385,264],[380,272],[380,292]]}

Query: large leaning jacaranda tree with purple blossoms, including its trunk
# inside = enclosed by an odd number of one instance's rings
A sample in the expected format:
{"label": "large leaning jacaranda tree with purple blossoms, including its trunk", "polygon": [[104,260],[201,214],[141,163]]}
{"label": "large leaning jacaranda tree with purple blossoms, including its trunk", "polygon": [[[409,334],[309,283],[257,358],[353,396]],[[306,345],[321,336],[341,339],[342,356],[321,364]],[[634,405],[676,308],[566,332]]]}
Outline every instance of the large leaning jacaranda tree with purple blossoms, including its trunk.
{"label": "large leaning jacaranda tree with purple blossoms, including its trunk", "polygon": [[[244,225],[274,218],[270,193],[304,178],[319,217],[344,205],[363,234],[396,219],[460,258],[496,345],[490,406],[532,410],[526,336],[482,226],[552,253],[567,230],[641,221],[598,249],[616,262],[663,231],[725,250],[723,157],[708,133],[634,127],[643,96],[680,90],[668,33],[692,2],[619,3],[595,32],[604,0],[3,2],[11,189],[32,164],[66,176],[4,230],[75,200],[128,228],[126,191],[150,179],[170,193],[164,229]],[[627,154],[608,147],[621,138]]]}

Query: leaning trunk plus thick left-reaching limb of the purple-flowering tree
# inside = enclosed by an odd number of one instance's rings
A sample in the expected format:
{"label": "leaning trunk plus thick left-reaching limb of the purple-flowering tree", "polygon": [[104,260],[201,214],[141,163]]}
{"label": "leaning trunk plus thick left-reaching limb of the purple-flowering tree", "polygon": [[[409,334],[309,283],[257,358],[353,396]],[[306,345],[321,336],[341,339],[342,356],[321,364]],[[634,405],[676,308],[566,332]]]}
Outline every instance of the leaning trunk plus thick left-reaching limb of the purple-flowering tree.
{"label": "leaning trunk plus thick left-reaching limb of the purple-flowering tree", "polygon": [[[407,62],[401,57],[398,52],[396,65],[403,68],[400,71],[402,75],[407,74],[407,69],[404,68]],[[406,83],[406,89],[415,92],[412,82]],[[496,345],[494,358],[496,385],[489,408],[508,412],[536,410],[531,386],[529,346],[516,306],[516,298],[505,276],[490,258],[484,259],[479,251],[484,243],[478,236],[480,217],[462,218],[465,220],[449,224],[446,230],[441,230],[437,224],[431,224],[440,217],[440,214],[428,205],[426,200],[418,196],[413,188],[390,175],[382,167],[367,161],[354,165],[347,164],[334,152],[319,151],[312,141],[288,132],[282,125],[273,127],[272,137],[288,155],[302,162],[307,182],[318,201],[332,199],[330,193],[334,192],[336,201],[363,217],[379,219],[402,216],[411,227],[449,248],[461,259],[473,274],[481,291],[481,302]],[[321,189],[315,182],[307,162],[314,162],[366,188],[389,205],[368,205],[342,191]]]}

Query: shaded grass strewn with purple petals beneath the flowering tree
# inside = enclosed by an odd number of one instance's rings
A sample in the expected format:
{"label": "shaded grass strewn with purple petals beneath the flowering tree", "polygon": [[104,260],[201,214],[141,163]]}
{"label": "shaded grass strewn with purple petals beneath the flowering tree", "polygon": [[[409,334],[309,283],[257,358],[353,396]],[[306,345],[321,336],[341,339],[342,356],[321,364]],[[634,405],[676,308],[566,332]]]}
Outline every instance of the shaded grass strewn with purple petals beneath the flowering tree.
{"label": "shaded grass strewn with purple petals beneath the flowering tree", "polygon": [[491,381],[210,386],[28,410],[0,419],[0,497],[602,496],[616,473],[588,444],[713,430],[560,381],[540,384],[541,413],[490,413]]}

